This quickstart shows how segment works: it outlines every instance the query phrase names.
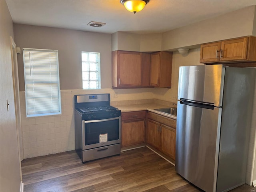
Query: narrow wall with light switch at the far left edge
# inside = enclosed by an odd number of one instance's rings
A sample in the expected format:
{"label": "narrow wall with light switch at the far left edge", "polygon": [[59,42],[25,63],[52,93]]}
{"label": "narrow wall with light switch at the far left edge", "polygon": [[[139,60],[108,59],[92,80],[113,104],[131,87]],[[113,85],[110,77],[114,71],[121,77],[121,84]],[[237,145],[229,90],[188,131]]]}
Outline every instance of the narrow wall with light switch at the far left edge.
{"label": "narrow wall with light switch at the far left edge", "polygon": [[[0,9],[0,191],[19,192],[21,176],[10,45],[10,36],[14,37],[13,25],[7,4],[3,0],[0,1]],[[7,99],[10,103],[9,112],[6,107]]]}

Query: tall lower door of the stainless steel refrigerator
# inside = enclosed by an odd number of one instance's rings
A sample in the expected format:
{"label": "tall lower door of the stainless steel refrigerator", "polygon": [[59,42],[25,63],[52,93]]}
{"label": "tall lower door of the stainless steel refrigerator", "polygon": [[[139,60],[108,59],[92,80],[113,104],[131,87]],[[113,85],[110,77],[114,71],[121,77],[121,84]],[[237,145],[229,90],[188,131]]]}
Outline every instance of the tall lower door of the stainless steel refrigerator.
{"label": "tall lower door of the stainless steel refrigerator", "polygon": [[216,190],[221,108],[178,102],[175,169],[204,191]]}

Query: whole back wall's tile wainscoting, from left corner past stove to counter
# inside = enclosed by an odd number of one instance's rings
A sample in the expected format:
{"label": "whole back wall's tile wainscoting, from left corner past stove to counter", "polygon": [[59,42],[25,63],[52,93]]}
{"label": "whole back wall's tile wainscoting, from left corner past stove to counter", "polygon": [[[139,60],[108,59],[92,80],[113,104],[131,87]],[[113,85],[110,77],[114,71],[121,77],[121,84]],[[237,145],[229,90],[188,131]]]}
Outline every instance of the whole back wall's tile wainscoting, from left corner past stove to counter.
{"label": "whole back wall's tile wainscoting, from left corner past stove to counter", "polygon": [[75,149],[74,95],[110,93],[111,101],[154,98],[153,89],[61,90],[62,114],[26,117],[25,92],[20,92],[24,159]]}

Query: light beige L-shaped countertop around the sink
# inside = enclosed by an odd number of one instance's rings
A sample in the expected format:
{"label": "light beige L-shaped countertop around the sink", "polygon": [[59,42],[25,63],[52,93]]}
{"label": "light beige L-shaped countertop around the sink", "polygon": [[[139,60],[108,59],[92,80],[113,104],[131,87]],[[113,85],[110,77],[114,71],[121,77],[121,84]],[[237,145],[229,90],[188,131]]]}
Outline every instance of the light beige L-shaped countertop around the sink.
{"label": "light beige L-shaped countertop around the sink", "polygon": [[112,105],[112,106],[118,108],[119,110],[121,110],[121,112],[148,110],[148,111],[154,112],[156,114],[166,116],[168,118],[172,118],[172,119],[175,119],[175,120],[177,119],[177,116],[154,110],[154,109],[169,108],[170,107],[170,106],[161,105],[161,104],[158,104],[158,103],[126,104],[126,105],[118,104],[118,105]]}

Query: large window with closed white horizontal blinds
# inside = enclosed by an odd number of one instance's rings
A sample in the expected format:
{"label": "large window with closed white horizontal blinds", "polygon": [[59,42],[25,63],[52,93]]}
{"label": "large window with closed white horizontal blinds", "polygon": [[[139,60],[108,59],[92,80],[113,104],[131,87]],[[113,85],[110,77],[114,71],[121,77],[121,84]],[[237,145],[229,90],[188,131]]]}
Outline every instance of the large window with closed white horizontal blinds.
{"label": "large window with closed white horizontal blinds", "polygon": [[58,50],[23,49],[27,117],[61,114]]}

